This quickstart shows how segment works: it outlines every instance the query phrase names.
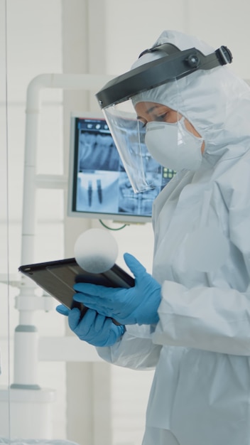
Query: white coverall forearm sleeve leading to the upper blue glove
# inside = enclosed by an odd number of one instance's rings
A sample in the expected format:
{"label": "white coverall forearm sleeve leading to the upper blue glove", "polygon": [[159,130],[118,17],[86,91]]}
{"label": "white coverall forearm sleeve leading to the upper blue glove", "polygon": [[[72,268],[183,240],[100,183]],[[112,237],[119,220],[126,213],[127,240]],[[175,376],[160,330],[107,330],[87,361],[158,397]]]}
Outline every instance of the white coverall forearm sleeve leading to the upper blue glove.
{"label": "white coverall forearm sleeve leading to the upper blue glove", "polygon": [[153,341],[217,353],[250,355],[250,298],[234,289],[164,282]]}

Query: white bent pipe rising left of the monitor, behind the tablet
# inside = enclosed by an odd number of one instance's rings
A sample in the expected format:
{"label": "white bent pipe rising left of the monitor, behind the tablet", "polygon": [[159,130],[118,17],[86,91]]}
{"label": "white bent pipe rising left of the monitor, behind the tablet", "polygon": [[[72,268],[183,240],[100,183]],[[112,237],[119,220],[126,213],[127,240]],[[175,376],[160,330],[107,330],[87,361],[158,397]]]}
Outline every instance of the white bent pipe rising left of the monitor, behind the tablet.
{"label": "white bent pipe rising left of the monitor, behind the tablet", "polygon": [[[106,82],[111,80],[107,75],[89,74],[41,74],[33,78],[28,85],[26,96],[26,136],[25,136],[25,159],[23,172],[23,220],[21,239],[21,264],[33,262],[34,237],[36,230],[36,188],[39,179],[36,175],[36,158],[38,146],[39,114],[40,114],[40,92],[45,88],[60,88],[62,90],[93,90],[97,91]],[[41,177],[39,177],[41,179]],[[50,177],[50,185],[53,179],[55,187],[65,187],[65,177]],[[43,182],[43,181],[42,181]],[[38,335],[36,327],[33,326],[34,306],[28,304],[26,296],[33,294],[33,283],[30,279],[23,277],[19,311],[19,325],[15,332],[14,347],[14,383],[18,385],[35,385],[37,382],[37,355]],[[33,294],[34,296],[34,294]],[[21,300],[23,297],[23,300]],[[34,296],[36,299],[36,296]],[[37,309],[40,309],[40,301]],[[28,354],[27,351],[32,351]],[[28,355],[27,355],[28,354]]]}

